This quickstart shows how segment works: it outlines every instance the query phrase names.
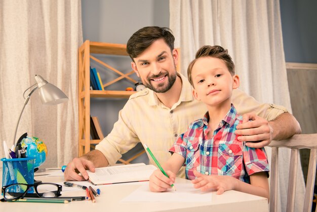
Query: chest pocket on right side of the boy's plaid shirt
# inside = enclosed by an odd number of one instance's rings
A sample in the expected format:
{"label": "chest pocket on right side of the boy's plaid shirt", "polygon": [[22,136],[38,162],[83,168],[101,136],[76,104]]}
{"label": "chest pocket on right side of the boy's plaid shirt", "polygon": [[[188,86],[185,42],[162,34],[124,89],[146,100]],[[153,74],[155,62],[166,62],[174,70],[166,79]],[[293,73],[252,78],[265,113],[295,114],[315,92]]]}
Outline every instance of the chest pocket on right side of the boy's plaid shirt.
{"label": "chest pocket on right side of the boy's plaid shirt", "polygon": [[242,150],[239,144],[219,144],[218,169],[222,175],[240,176],[243,168]]}

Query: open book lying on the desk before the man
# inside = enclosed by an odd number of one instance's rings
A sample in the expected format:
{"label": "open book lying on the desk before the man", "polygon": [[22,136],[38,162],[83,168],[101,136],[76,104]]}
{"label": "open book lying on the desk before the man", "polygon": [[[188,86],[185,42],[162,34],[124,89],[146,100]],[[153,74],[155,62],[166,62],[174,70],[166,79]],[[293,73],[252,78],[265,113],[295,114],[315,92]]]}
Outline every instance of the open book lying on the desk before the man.
{"label": "open book lying on the desk before the man", "polygon": [[148,181],[150,175],[156,169],[154,165],[135,163],[128,165],[108,166],[96,168],[95,172],[87,170],[89,181],[94,185],[114,183],[129,183]]}

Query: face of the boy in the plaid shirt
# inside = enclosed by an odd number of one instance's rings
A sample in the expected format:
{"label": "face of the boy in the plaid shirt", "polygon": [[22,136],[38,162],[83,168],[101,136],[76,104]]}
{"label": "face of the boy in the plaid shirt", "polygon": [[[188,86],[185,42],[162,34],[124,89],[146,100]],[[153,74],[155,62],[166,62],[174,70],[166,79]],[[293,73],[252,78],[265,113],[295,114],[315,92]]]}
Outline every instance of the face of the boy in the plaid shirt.
{"label": "face of the boy in the plaid shirt", "polygon": [[225,62],[214,57],[201,57],[192,67],[193,96],[210,106],[231,103],[232,89],[239,87],[239,77],[231,76]]}

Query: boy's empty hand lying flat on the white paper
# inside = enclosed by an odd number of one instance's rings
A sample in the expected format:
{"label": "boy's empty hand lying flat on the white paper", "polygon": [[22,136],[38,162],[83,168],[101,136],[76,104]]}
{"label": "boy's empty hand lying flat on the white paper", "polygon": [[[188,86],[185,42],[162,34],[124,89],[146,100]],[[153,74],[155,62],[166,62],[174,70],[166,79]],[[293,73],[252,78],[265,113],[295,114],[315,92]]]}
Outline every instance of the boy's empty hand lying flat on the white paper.
{"label": "boy's empty hand lying flat on the white paper", "polygon": [[200,189],[201,191],[217,191],[217,194],[222,194],[225,191],[233,190],[234,179],[232,176],[224,175],[205,175],[194,170],[195,180],[191,183],[194,188]]}

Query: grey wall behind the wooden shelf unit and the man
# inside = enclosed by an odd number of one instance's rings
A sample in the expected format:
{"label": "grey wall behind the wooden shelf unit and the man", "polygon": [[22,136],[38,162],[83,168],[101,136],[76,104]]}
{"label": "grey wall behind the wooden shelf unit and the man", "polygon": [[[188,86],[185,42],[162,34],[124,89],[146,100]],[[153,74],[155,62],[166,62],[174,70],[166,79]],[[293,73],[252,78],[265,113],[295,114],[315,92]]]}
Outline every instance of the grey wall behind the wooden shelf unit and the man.
{"label": "grey wall behind the wooden shelf unit and the man", "polygon": [[[126,44],[130,36],[144,26],[169,26],[169,18],[169,0],[82,0],[84,41]],[[130,57],[95,56],[123,73],[132,70]],[[118,76],[105,70],[96,62],[91,61],[91,66],[99,70],[103,83]],[[135,75],[133,78],[137,80]],[[126,87],[134,87],[134,84],[121,80],[107,89],[125,90]],[[124,107],[127,100],[120,98],[91,99],[91,115],[99,118],[104,135],[111,131],[113,124],[118,119],[118,112]],[[142,150],[142,146],[138,145],[123,158],[128,158],[140,150]],[[133,163],[136,162],[147,163],[147,156],[143,154],[133,161]]]}

